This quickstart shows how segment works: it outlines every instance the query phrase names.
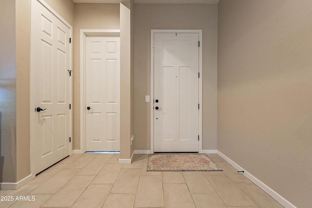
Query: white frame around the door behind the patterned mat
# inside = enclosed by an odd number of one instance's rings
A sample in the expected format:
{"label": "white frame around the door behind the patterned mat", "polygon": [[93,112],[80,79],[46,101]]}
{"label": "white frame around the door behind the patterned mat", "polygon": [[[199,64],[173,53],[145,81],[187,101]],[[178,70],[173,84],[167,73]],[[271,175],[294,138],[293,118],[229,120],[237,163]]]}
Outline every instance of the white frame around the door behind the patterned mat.
{"label": "white frame around the door behind the patterned mat", "polygon": [[199,93],[199,116],[198,116],[198,134],[199,134],[199,145],[198,152],[202,151],[202,30],[151,30],[151,151],[154,153],[154,35],[156,33],[195,33],[198,34],[199,38],[199,53],[198,53],[198,93]]}

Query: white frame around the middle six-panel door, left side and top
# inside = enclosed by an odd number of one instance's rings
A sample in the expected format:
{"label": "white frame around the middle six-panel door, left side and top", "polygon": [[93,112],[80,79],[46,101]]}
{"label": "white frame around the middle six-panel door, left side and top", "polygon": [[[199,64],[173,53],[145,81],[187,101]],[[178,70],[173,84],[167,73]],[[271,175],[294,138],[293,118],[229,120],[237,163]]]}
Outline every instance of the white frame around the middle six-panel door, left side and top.
{"label": "white frame around the middle six-panel door, left side and top", "polygon": [[87,37],[120,37],[120,30],[105,29],[80,29],[80,150],[75,153],[86,151],[86,38]]}

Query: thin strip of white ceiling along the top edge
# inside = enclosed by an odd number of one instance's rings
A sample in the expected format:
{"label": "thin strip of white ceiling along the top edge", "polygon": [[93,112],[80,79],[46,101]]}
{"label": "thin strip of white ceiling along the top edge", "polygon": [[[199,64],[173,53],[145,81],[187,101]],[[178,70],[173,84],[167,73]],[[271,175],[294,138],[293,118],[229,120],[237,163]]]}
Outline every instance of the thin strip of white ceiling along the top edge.
{"label": "thin strip of white ceiling along the top edge", "polygon": [[[74,3],[119,3],[120,0],[73,0]],[[135,3],[218,3],[219,0],[134,0]]]}

